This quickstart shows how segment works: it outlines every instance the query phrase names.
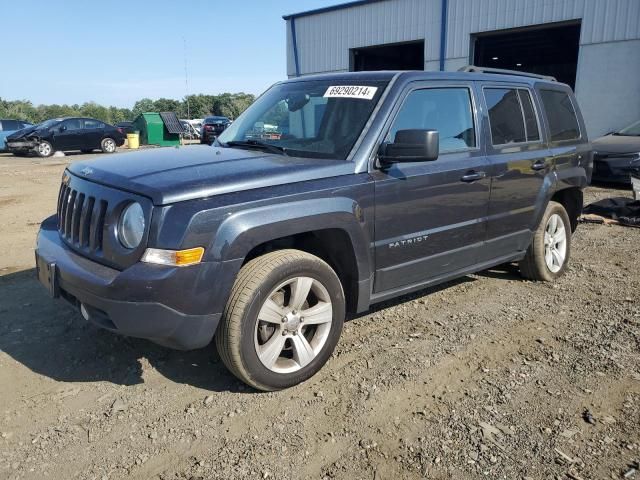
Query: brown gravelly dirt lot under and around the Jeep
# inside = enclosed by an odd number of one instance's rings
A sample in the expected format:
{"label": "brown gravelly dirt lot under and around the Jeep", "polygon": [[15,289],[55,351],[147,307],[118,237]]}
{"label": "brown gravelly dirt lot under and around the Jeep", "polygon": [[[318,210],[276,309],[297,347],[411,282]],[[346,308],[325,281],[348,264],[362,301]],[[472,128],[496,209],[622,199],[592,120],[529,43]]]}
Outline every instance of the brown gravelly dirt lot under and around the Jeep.
{"label": "brown gravelly dirt lot under and around the Jeep", "polygon": [[380,305],[309,382],[256,393],[213,346],[100,331],[36,283],[85,157],[0,155],[0,478],[640,479],[640,229],[581,225],[556,284],[506,267]]}

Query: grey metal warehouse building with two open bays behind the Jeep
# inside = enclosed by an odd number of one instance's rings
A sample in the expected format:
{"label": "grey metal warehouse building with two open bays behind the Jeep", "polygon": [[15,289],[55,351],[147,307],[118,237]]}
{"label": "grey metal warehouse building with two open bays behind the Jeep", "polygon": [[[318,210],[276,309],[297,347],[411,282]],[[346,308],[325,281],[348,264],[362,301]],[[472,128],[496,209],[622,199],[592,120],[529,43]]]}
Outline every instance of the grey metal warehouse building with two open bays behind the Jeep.
{"label": "grey metal warehouse building with two open bays behind the Jeep", "polygon": [[568,83],[591,138],[640,119],[640,0],[362,0],[284,19],[289,77],[473,64]]}

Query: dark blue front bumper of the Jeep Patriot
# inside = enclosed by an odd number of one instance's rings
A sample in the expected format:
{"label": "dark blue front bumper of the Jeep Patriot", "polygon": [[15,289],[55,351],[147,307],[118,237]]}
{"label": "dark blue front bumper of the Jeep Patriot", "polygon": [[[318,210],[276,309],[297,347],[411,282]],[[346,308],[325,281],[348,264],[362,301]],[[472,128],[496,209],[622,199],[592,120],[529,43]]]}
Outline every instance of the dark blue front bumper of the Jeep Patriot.
{"label": "dark blue front bumper of the Jeep Patriot", "polygon": [[38,278],[53,297],[82,307],[83,316],[101,328],[180,350],[211,342],[221,313],[205,311],[222,311],[209,299],[216,297],[211,280],[223,265],[171,268],[136,263],[115,270],[67,247],[55,216],[41,225],[36,248]]}

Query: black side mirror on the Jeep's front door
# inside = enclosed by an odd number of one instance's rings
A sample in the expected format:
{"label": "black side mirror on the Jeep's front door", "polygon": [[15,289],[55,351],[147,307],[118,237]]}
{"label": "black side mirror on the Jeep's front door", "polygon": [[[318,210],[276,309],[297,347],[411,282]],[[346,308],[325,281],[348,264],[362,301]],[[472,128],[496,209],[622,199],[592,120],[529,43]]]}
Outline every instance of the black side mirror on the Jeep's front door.
{"label": "black side mirror on the Jeep's front door", "polygon": [[398,130],[393,143],[380,145],[382,163],[427,162],[438,158],[440,137],[437,130]]}

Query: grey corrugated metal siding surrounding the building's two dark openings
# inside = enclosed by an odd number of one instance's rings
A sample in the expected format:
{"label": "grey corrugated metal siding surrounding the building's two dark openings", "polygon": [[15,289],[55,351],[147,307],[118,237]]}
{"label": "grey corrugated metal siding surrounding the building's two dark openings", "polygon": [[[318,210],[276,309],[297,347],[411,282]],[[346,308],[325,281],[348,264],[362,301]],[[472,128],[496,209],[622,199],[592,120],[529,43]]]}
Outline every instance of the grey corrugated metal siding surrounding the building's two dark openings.
{"label": "grey corrugated metal siding surrounding the building's two dark openings", "polygon": [[[387,0],[295,19],[300,72],[349,69],[349,50],[425,41],[425,67],[439,60],[441,0]],[[449,0],[446,57],[469,58],[470,35],[581,19],[580,44],[640,38],[640,0]],[[295,75],[290,21],[287,73]],[[640,53],[639,53],[640,55]]]}

